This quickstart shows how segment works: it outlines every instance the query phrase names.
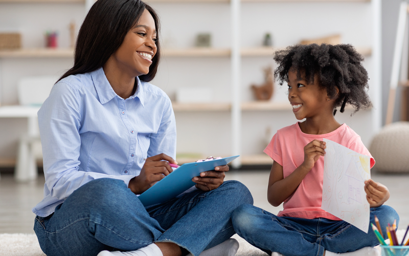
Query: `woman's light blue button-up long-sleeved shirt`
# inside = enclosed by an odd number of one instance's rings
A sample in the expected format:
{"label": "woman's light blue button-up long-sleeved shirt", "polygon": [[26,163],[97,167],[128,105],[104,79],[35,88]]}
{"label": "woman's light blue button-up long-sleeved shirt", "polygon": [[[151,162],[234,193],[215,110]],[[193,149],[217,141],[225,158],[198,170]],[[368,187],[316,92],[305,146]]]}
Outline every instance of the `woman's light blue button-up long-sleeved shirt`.
{"label": "woman's light blue button-up long-sleeved shirt", "polygon": [[140,81],[127,99],[118,96],[102,68],[56,83],[38,111],[44,199],[32,210],[46,217],[75,189],[99,178],[126,184],[147,157],[175,159],[176,124],[169,97]]}

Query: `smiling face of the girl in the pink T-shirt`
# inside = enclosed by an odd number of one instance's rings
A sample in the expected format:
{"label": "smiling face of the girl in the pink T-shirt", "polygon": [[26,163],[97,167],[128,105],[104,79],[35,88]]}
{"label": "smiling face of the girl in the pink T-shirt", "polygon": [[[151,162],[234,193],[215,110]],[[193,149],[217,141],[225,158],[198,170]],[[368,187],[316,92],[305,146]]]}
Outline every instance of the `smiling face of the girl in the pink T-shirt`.
{"label": "smiling face of the girl in the pink T-shirt", "polygon": [[[332,101],[328,100],[327,91],[319,87],[318,77],[315,75],[314,82],[308,83],[297,79],[297,71],[288,72],[288,100],[292,105],[292,112],[298,120],[310,118],[326,113],[332,107]],[[330,109],[332,113],[332,109]]]}

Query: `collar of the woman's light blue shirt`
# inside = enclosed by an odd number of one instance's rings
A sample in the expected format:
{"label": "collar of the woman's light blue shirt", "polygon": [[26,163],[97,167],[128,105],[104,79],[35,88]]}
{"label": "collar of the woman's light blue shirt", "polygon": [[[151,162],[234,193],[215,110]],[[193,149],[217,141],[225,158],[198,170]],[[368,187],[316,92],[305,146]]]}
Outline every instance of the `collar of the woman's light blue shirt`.
{"label": "collar of the woman's light blue shirt", "polygon": [[[98,94],[99,101],[101,102],[101,104],[105,104],[106,102],[115,98],[115,96],[118,96],[115,93],[115,91],[113,91],[111,84],[106,78],[105,72],[102,69],[102,67],[96,71],[91,72],[91,77],[93,78],[95,89],[97,90],[97,94]],[[135,77],[135,79],[138,84],[137,91],[131,97],[129,97],[129,99],[134,99],[135,97],[138,97],[139,100],[141,101],[142,106],[144,106],[143,98],[145,94],[142,88],[142,83],[139,77]]]}

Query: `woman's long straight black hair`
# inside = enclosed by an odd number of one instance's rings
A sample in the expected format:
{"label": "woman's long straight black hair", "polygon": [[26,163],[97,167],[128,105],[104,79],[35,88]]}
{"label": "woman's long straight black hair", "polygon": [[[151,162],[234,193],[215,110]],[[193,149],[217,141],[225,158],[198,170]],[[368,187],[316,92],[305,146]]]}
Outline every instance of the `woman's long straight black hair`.
{"label": "woman's long straight black hair", "polygon": [[93,72],[105,65],[109,57],[121,46],[126,34],[138,23],[144,10],[152,15],[156,27],[156,54],[149,73],[141,75],[142,81],[151,81],[161,58],[159,45],[160,22],[156,12],[140,0],[98,0],[89,9],[78,33],[74,51],[74,67],[59,80],[76,74]]}

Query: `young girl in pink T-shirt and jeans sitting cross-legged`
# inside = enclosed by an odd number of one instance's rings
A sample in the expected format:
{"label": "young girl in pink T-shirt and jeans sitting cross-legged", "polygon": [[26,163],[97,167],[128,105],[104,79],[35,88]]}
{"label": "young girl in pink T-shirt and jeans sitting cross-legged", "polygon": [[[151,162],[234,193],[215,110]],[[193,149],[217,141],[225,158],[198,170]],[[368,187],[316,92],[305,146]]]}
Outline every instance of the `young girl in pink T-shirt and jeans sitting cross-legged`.
{"label": "young girl in pink T-shirt and jeans sitting cross-legged", "polygon": [[[297,45],[278,51],[275,77],[288,83],[288,100],[298,120],[277,131],[264,152],[274,163],[268,182],[268,202],[284,210],[276,216],[253,205],[238,207],[232,216],[240,237],[271,254],[286,256],[378,255],[372,230],[362,232],[321,209],[325,155],[324,138],[371,157],[360,137],[334,115],[348,103],[355,112],[371,106],[366,92],[368,73],[362,56],[350,45]],[[370,222],[375,215],[382,227],[399,216],[383,205],[389,190],[365,181]],[[383,234],[386,230],[382,229]]]}

